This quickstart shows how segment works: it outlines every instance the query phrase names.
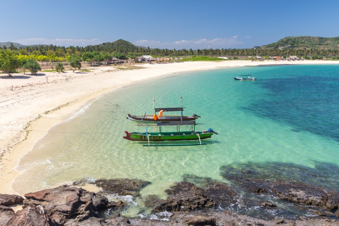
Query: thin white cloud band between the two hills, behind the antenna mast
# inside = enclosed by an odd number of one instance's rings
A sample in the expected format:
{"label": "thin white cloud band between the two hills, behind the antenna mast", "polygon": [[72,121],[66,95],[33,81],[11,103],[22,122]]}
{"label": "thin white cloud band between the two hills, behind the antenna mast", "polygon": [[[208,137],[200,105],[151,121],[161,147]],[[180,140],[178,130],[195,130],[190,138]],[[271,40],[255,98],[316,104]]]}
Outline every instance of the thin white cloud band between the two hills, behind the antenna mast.
{"label": "thin white cloud band between the two hills, behind the antenna mast", "polygon": [[183,49],[183,48],[192,48],[192,49],[205,49],[208,48],[208,43],[210,43],[210,48],[235,48],[236,45],[243,44],[242,41],[238,39],[238,36],[233,36],[232,38],[215,38],[215,39],[193,39],[193,40],[180,40],[173,42],[160,42],[155,40],[140,40],[136,41],[136,45],[149,46],[150,48],[168,48],[168,49]]}

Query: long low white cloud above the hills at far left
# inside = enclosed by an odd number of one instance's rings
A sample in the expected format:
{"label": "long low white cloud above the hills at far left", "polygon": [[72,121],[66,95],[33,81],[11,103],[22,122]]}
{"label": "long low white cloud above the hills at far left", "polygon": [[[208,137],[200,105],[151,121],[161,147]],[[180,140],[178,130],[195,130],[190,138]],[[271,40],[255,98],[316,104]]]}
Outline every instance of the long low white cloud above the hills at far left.
{"label": "long low white cloud above the hills at far left", "polygon": [[87,46],[87,45],[98,45],[102,42],[98,38],[93,39],[45,39],[45,38],[29,38],[29,39],[20,39],[15,40],[14,42],[20,43],[22,45],[57,45],[57,46]]}

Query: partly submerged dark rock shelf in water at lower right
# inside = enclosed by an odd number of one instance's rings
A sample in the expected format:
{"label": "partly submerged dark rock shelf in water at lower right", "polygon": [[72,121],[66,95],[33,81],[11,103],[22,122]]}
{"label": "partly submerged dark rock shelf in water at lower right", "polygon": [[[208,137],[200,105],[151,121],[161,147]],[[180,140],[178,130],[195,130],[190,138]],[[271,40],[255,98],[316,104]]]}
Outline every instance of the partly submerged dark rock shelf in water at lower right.
{"label": "partly submerged dark rock shelf in water at lower right", "polygon": [[[273,199],[277,206],[274,207],[276,208],[274,211],[279,217],[298,219],[300,215],[307,215],[310,212],[320,216],[336,217],[335,211],[339,208],[339,191],[326,187],[320,188],[317,185],[325,182],[329,186],[331,181],[329,176],[317,174],[317,170],[322,169],[321,167],[323,166],[318,164],[315,170],[285,163],[267,163],[267,165],[240,163],[222,166],[221,175],[245,192],[243,199],[247,208],[251,208],[252,204],[253,207],[255,206],[253,200],[265,202],[265,199]],[[326,169],[322,170],[326,171]],[[281,208],[286,205],[289,208]],[[266,214],[263,209],[257,208],[257,210],[260,211],[255,213],[258,214],[256,217]],[[246,211],[240,212],[246,213]],[[254,211],[250,214],[253,213]]]}

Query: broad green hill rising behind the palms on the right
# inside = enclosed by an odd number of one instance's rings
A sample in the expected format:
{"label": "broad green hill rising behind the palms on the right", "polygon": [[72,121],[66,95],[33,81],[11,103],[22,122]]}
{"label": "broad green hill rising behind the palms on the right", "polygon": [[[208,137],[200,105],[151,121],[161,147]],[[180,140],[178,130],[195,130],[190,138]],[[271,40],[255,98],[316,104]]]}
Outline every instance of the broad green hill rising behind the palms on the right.
{"label": "broad green hill rising behind the palms on the right", "polygon": [[278,42],[261,46],[263,49],[295,48],[295,49],[337,49],[339,48],[339,37],[324,38],[312,36],[286,37]]}

